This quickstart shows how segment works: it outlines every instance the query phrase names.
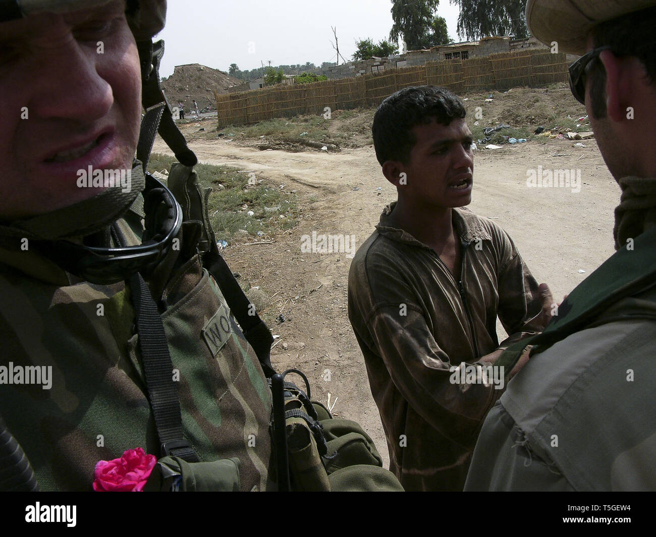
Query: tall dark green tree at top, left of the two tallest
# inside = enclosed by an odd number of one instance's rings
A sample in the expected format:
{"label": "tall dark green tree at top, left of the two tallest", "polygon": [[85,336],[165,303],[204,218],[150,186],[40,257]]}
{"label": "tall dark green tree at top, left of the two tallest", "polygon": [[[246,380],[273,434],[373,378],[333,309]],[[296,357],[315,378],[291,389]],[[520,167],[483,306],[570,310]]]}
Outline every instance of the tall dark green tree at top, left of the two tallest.
{"label": "tall dark green tree at top, left of the two tallest", "polygon": [[[402,35],[407,50],[441,45],[438,41],[449,43],[449,35],[444,31],[446,21],[436,16],[438,5],[440,0],[392,0],[394,24],[390,30],[390,41],[396,42]],[[436,30],[439,33],[436,34]]]}

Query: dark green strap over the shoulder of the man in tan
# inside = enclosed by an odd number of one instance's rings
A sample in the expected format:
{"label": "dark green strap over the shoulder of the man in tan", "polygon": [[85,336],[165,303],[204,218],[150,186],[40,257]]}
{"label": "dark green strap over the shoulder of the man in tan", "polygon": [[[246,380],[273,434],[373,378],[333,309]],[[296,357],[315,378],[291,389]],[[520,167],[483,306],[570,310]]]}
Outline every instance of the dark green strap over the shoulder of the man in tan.
{"label": "dark green strap over the shoulder of the man in tan", "polygon": [[543,352],[574,332],[594,322],[609,306],[622,298],[656,285],[656,227],[638,236],[632,250],[618,250],[584,279],[558,308],[558,315],[541,334],[508,347],[495,365],[510,373],[524,349],[533,345],[531,356]]}

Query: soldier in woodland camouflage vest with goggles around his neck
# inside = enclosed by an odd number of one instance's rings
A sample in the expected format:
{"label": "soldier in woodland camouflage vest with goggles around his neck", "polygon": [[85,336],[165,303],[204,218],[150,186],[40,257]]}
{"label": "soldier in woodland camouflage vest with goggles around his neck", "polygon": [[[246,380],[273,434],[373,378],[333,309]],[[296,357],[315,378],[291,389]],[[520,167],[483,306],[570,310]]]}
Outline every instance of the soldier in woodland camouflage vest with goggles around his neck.
{"label": "soldier in woodland camouflage vest with goggles around his neck", "polygon": [[[238,459],[232,488],[269,481],[261,359],[205,268],[218,252],[195,155],[155,106],[165,11],[14,0],[0,13],[0,416],[42,490],[91,490],[98,461],[138,447]],[[160,116],[180,161],[167,186],[144,170]]]}

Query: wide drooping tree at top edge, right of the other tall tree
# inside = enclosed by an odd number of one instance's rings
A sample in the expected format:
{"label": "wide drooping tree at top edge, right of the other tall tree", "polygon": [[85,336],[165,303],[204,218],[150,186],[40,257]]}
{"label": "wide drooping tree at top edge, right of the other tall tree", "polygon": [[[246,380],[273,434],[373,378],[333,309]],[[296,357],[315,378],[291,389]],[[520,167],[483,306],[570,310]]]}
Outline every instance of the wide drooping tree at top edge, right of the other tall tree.
{"label": "wide drooping tree at top edge, right of the other tall tree", "polygon": [[526,0],[451,0],[460,8],[458,35],[480,39],[488,35],[528,37]]}

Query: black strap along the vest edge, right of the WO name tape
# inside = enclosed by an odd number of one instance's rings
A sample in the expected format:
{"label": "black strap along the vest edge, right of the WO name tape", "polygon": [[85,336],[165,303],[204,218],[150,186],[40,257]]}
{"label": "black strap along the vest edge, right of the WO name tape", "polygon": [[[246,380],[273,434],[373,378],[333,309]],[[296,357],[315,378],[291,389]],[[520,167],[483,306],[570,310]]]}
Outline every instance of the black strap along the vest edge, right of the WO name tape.
{"label": "black strap along the vest edge, right of the WO name tape", "polygon": [[241,326],[241,331],[246,340],[253,347],[264,374],[267,377],[276,374],[270,358],[274,336],[271,335],[269,328],[260,319],[255,308],[239,287],[239,283],[237,283],[226,260],[222,258],[218,251],[213,249],[205,254],[203,265],[213,275],[216,283],[221,288],[223,296],[228,302],[228,308],[230,308],[235,319],[237,319],[237,323]]}

